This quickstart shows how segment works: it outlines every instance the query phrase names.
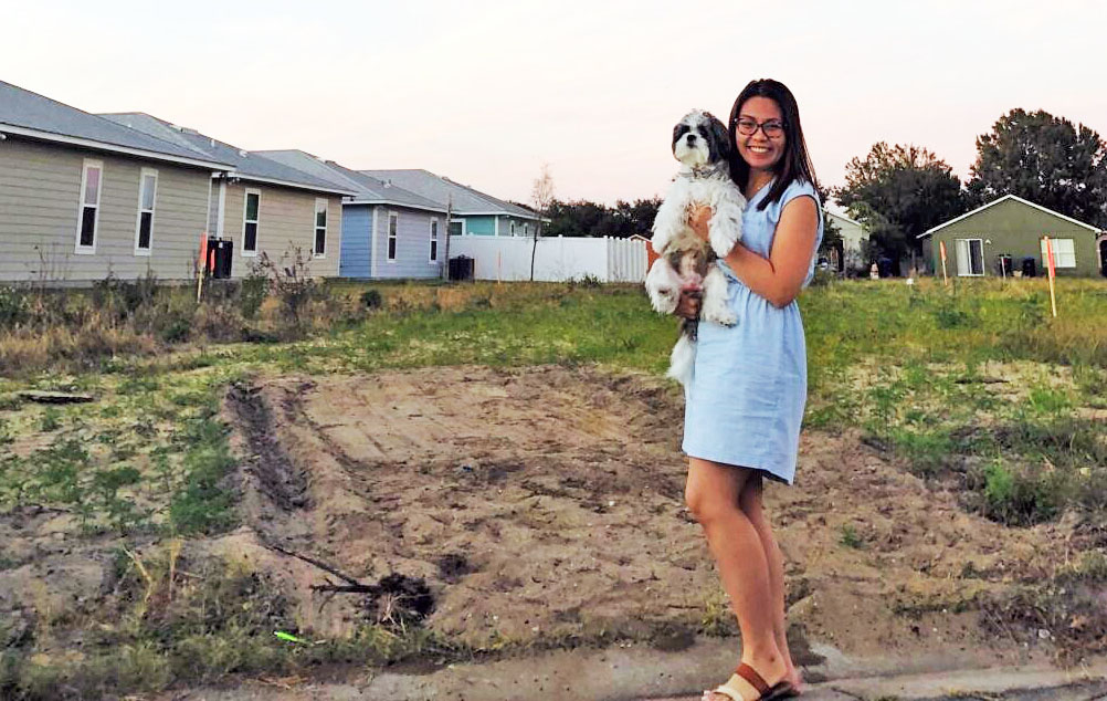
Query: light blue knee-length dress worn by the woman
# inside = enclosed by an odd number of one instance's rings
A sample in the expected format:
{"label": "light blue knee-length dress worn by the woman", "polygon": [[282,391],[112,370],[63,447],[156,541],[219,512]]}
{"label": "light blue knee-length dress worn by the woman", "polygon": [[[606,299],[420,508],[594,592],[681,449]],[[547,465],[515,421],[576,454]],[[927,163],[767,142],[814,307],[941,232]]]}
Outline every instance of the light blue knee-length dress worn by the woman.
{"label": "light blue knee-length dress worn by the woman", "polygon": [[[742,244],[768,257],[784,206],[796,197],[815,199],[819,212],[816,250],[823,240],[823,207],[810,183],[794,181],[780,200],[757,208],[772,183],[742,214]],[[777,309],[746,287],[722,260],[727,302],[737,324],[700,322],[695,367],[685,388],[684,452],[716,463],[755,467],[792,484],[796,474],[799,423],[807,401],[807,349],[799,307]],[[804,280],[815,272],[815,255]]]}

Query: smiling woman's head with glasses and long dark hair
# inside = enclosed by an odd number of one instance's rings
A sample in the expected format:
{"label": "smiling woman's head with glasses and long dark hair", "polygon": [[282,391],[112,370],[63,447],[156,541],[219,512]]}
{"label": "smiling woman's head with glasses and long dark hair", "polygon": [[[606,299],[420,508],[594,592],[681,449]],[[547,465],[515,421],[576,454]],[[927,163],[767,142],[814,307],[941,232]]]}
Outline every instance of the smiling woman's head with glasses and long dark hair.
{"label": "smiling woman's head with glasses and long dark hair", "polygon": [[735,145],[731,159],[734,182],[745,187],[751,168],[772,172],[776,177],[758,208],[778,200],[797,178],[817,186],[799,124],[799,107],[784,83],[751,81],[734,101],[728,128]]}

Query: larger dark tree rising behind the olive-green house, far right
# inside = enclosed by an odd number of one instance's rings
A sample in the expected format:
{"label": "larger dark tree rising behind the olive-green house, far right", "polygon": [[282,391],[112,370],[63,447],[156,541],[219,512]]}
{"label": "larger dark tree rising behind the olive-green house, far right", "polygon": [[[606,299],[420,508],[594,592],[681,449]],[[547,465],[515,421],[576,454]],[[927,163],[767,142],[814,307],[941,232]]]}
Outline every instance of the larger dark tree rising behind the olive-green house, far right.
{"label": "larger dark tree rising behind the olive-green house, far right", "polygon": [[1107,144],[1083,124],[1012,110],[976,137],[971,172],[969,193],[977,205],[1010,194],[1107,226]]}

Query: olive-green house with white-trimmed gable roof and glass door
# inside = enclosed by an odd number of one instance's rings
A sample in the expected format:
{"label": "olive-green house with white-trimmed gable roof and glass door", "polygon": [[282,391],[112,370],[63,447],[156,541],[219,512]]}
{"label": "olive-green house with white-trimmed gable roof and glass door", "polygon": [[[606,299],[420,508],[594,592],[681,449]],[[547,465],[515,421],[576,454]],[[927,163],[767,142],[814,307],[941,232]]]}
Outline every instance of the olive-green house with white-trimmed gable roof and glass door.
{"label": "olive-green house with white-trimmed gable roof and glass door", "polygon": [[1001,257],[1012,271],[1041,275],[1045,269],[1043,237],[1053,240],[1058,276],[1089,277],[1101,271],[1097,237],[1103,231],[1041,205],[1005,195],[919,235],[931,272],[941,274],[940,244],[951,276],[999,276]]}

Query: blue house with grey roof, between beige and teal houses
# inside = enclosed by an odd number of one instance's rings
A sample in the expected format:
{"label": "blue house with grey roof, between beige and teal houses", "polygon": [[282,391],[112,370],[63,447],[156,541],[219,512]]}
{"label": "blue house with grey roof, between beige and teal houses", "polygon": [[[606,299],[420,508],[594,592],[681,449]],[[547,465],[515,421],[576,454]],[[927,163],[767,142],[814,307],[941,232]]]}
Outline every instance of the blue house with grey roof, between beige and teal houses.
{"label": "blue house with grey roof, between beige and teal houses", "polygon": [[442,277],[447,246],[444,205],[302,151],[260,153],[356,192],[342,203],[341,277]]}

